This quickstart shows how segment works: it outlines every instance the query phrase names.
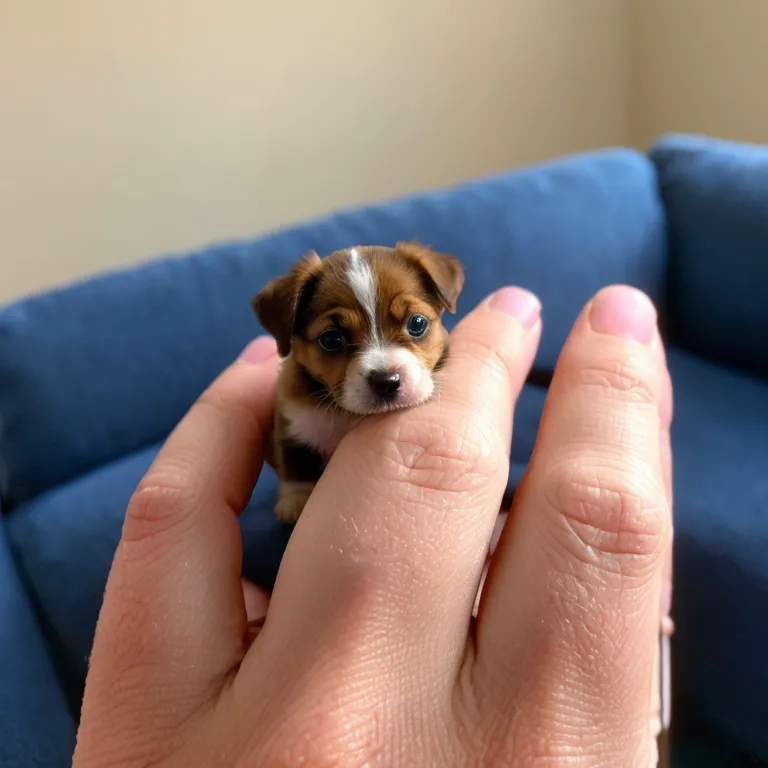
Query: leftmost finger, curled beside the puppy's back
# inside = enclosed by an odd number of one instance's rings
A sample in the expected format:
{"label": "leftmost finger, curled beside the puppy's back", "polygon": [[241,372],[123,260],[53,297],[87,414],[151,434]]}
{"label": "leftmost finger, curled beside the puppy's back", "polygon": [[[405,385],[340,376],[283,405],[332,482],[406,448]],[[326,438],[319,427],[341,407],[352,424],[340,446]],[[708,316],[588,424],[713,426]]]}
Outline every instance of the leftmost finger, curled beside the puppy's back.
{"label": "leftmost finger, curled beside the puppy's back", "polygon": [[196,703],[242,657],[237,515],[262,464],[275,372],[274,342],[257,340],[201,396],[141,481],[99,617],[86,712],[120,706],[121,691],[133,689],[146,707],[180,716],[177,699]]}

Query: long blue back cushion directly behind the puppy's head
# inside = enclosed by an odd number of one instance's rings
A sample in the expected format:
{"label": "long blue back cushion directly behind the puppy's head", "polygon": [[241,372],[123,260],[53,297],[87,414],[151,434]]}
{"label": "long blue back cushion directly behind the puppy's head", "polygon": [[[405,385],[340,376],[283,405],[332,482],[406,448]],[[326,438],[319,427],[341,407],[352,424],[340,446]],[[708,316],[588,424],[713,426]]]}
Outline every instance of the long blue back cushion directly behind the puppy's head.
{"label": "long blue back cushion directly behind the puppy's head", "polygon": [[300,254],[413,237],[467,264],[461,313],[503,283],[539,292],[544,366],[581,305],[605,283],[631,283],[658,297],[665,279],[653,166],[639,153],[616,150],[341,213],[31,298],[0,312],[6,507],[163,439],[259,332],[250,298]]}

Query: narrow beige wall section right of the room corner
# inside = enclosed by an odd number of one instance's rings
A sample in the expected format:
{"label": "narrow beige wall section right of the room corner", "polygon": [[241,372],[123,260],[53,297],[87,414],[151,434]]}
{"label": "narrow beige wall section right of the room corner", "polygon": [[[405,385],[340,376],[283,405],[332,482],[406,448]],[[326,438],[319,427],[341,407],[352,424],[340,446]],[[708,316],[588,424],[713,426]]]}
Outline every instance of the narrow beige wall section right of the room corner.
{"label": "narrow beige wall section right of the room corner", "polygon": [[636,0],[635,137],[768,143],[768,2]]}

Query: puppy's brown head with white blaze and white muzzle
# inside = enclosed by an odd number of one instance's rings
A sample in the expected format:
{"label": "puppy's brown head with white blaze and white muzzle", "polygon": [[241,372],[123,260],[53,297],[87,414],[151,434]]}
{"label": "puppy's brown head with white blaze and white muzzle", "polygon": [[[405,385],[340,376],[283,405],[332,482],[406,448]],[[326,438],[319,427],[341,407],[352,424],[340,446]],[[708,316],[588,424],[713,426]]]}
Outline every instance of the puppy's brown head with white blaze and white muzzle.
{"label": "puppy's brown head with white blaze and white muzzle", "polygon": [[463,284],[459,262],[425,246],[360,246],[311,252],[253,306],[319,400],[370,414],[432,395],[448,345],[441,318]]}

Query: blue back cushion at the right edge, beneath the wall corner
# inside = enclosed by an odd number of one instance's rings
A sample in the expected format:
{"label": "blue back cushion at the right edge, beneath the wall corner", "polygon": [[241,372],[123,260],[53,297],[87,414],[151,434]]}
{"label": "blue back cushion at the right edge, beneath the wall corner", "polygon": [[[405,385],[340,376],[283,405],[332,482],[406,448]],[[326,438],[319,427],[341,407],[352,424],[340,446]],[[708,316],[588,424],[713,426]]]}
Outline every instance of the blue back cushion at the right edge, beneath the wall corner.
{"label": "blue back cushion at the right edge, beneath the wall corner", "polygon": [[651,157],[669,226],[671,340],[768,376],[768,146],[669,136]]}

